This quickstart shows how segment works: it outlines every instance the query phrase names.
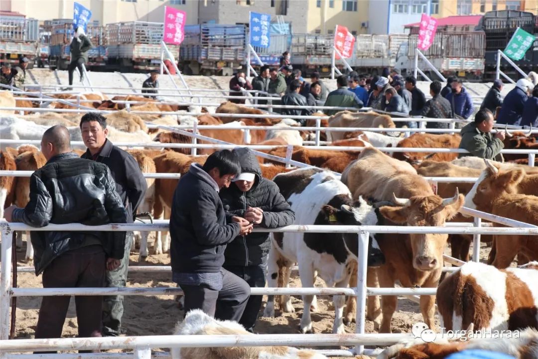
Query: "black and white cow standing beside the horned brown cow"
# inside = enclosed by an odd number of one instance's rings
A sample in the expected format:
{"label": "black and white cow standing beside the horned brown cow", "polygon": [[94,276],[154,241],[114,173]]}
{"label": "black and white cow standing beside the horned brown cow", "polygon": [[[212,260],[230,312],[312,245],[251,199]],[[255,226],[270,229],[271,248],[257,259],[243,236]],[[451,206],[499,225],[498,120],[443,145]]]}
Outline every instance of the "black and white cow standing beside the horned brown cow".
{"label": "black and white cow standing beside the horned brown cow", "polygon": [[[278,174],[274,182],[295,212],[297,224],[375,225],[375,210],[359,199],[353,202],[349,189],[329,171],[301,168]],[[346,287],[353,262],[357,261],[357,234],[272,233],[267,263],[269,287],[288,286],[293,263],[299,264],[303,287],[314,287],[315,271],[327,286]],[[370,237],[368,264],[384,263],[383,254]],[[281,312],[293,312],[289,296],[283,296]],[[303,295],[300,330],[312,333],[310,305],[314,295]],[[335,322],[333,333],[345,333],[343,325],[344,296],[334,296]],[[268,296],[264,316],[274,316],[274,297]]]}

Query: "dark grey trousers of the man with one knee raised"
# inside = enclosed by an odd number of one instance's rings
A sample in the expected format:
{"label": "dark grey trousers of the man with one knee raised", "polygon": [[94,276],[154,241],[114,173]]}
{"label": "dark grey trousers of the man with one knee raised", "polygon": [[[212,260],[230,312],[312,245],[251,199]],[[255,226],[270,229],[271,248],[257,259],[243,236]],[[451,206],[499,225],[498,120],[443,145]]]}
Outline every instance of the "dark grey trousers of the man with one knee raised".
{"label": "dark grey trousers of the man with one knee raised", "polygon": [[207,285],[180,284],[185,293],[185,314],[202,309],[216,319],[239,321],[250,296],[250,286],[243,279],[223,269],[222,289],[216,291]]}

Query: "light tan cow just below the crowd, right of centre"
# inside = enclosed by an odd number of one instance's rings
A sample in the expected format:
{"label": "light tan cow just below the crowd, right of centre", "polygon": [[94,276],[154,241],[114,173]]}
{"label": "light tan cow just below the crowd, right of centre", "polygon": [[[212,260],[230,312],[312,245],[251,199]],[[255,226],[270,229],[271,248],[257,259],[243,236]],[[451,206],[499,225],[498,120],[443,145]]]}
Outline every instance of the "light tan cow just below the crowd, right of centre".
{"label": "light tan cow just below the crowd, right of centre", "polygon": [[[340,111],[329,118],[329,127],[368,127],[368,128],[395,128],[391,116],[377,112],[351,112]],[[352,131],[350,131],[352,132]],[[348,132],[327,131],[330,141],[344,139]]]}

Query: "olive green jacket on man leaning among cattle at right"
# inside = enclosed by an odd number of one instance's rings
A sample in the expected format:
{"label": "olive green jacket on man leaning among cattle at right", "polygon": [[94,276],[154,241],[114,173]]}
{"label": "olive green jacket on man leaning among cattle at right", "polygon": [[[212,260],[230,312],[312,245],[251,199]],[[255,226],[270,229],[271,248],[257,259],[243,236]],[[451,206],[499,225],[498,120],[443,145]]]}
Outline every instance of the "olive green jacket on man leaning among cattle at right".
{"label": "olive green jacket on man leaning among cattle at right", "polygon": [[494,138],[491,132],[482,132],[471,122],[466,124],[459,134],[462,136],[459,148],[471,153],[460,153],[458,157],[476,156],[502,162],[500,152],[504,149],[504,143],[500,138]]}

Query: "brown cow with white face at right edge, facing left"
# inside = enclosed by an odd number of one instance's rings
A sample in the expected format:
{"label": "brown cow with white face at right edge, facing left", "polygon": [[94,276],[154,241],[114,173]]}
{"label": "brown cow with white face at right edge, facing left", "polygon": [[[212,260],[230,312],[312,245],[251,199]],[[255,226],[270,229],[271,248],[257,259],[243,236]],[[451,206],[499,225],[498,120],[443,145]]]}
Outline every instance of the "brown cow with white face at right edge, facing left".
{"label": "brown cow with white face at right edge, facing left", "polygon": [[[485,161],[487,168],[465,196],[465,207],[538,225],[538,196],[519,192],[519,187],[527,188],[527,184],[529,189],[525,191],[535,192],[536,176],[530,176],[529,180],[522,168],[503,170],[499,165]],[[493,241],[496,250],[488,262],[497,268],[509,266],[520,251],[530,261],[538,260],[536,236],[495,235]]]}

